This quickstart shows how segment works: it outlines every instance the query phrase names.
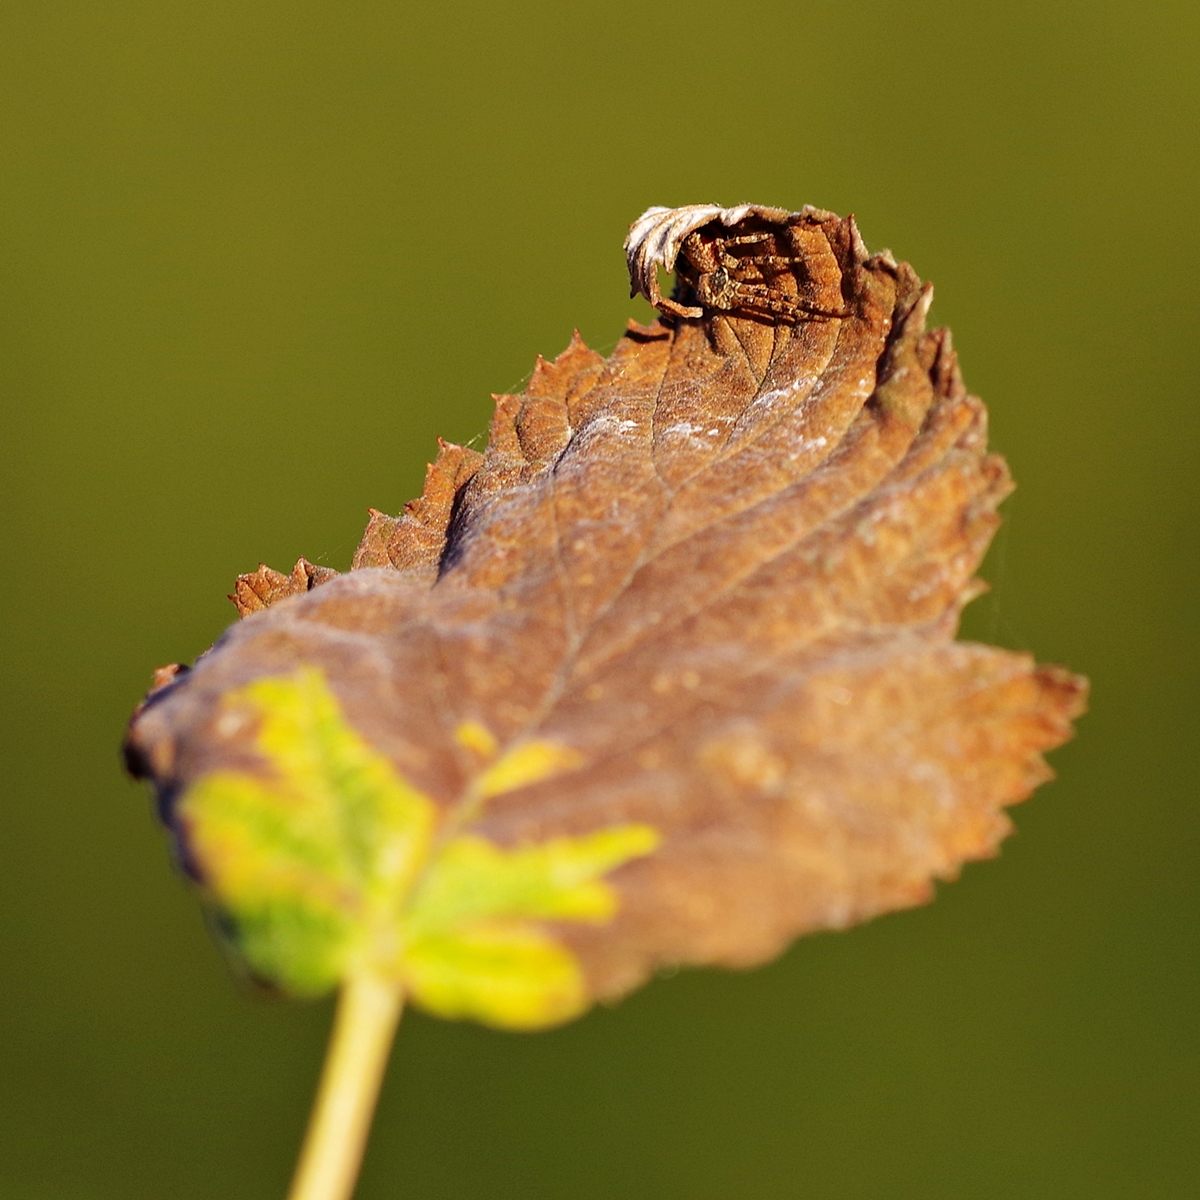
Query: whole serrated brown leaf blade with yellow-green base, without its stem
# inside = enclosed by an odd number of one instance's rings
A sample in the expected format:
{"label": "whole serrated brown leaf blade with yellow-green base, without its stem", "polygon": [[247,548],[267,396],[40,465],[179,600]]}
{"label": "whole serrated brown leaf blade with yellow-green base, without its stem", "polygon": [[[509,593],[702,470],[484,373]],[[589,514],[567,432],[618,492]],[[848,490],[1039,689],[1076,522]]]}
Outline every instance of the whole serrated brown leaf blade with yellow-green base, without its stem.
{"label": "whole serrated brown leaf blade with yellow-green base, without its stem", "polygon": [[1012,485],[912,269],[816,209],[650,210],[626,251],[659,320],[539,359],[348,572],[241,576],[134,714],[284,991],[536,1028],[766,961],[992,854],[1082,712],[954,640]]}

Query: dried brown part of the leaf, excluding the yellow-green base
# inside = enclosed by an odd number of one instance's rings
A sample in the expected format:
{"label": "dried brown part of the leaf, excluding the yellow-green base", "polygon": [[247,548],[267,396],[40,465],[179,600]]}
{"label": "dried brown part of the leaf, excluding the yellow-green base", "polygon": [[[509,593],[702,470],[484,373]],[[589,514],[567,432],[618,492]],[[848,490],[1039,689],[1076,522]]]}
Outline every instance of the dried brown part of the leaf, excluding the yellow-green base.
{"label": "dried brown part of the leaf, excluding the yellow-green base", "polygon": [[[1012,486],[984,408],[924,328],[930,289],[851,220],[734,212],[685,230],[703,245],[659,298],[677,316],[607,359],[576,336],[539,360],[482,458],[443,445],[349,574],[239,580],[253,618],[131,731],[168,811],[206,773],[260,769],[222,697],[316,666],[403,778],[499,846],[659,830],[611,876],[611,923],[547,924],[598,997],[665,964],[763,961],[994,852],[1085,685],[954,641]],[[766,290],[722,292],[698,260],[734,236],[733,282]],[[463,728],[577,766],[468,811]]]}

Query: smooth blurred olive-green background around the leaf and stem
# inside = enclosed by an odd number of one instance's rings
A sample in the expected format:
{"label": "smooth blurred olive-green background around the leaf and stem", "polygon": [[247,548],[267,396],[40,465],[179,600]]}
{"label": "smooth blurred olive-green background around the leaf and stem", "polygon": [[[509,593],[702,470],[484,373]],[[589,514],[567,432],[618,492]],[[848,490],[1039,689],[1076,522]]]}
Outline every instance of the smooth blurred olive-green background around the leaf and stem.
{"label": "smooth blurred olive-green background around the leaf and stem", "polygon": [[259,559],[344,568],[649,204],[858,214],[1020,491],[971,636],[1093,679],[929,908],[539,1036],[406,1018],[360,1196],[1200,1194],[1194,4],[0,13],[0,1196],[281,1198],[329,1021],[244,995],[116,746]]}

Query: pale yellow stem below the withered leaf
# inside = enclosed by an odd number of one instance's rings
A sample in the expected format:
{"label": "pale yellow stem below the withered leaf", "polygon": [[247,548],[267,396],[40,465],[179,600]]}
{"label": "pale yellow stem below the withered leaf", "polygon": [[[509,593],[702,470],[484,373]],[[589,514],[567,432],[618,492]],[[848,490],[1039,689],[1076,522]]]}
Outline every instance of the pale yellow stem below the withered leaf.
{"label": "pale yellow stem below the withered leaf", "polygon": [[378,976],[342,984],[288,1200],[350,1200],[403,1004],[400,985]]}

